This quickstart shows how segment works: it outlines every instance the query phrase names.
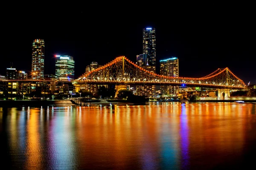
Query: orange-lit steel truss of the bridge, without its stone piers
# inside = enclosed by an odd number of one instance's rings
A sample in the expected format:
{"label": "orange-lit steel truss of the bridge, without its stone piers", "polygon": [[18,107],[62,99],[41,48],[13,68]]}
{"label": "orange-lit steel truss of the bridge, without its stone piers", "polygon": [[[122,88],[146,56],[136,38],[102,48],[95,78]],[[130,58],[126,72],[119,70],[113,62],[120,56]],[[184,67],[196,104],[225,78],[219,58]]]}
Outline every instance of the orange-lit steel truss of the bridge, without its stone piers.
{"label": "orange-lit steel truss of the bridge, without its stone piers", "polygon": [[172,85],[205,88],[244,89],[245,83],[228,68],[218,68],[213,73],[200,77],[168,77],[151,73],[139,67],[124,56],[84,73],[73,81],[74,85],[115,84],[115,85]]}

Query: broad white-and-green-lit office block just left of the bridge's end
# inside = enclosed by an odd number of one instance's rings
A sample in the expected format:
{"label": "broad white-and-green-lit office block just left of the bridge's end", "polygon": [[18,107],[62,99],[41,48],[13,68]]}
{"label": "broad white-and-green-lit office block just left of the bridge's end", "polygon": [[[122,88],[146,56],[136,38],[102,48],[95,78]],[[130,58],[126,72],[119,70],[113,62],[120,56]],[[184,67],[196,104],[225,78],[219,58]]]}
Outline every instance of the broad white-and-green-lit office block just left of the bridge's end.
{"label": "broad white-and-green-lit office block just left of the bridge's end", "polygon": [[75,79],[75,61],[71,56],[56,55],[55,77],[58,80],[70,81]]}

